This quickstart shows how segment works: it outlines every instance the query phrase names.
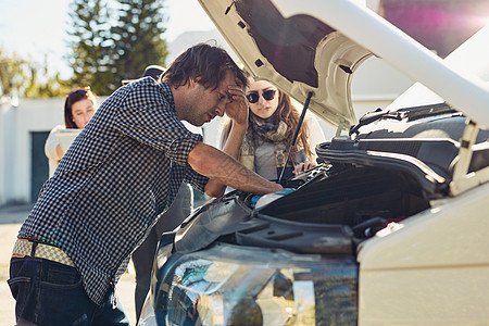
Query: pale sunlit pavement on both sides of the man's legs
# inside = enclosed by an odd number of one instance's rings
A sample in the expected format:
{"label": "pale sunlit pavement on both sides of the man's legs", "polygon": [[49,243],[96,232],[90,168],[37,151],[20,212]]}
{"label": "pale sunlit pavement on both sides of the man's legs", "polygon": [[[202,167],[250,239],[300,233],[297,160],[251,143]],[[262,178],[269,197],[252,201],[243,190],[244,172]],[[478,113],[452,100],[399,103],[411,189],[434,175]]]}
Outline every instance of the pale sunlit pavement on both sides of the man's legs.
{"label": "pale sunlit pavement on both sides of the man's legs", "polygon": [[[32,204],[0,206],[0,325],[15,325],[15,301],[7,284],[12,248],[18,229],[30,212]],[[129,265],[128,271],[118,281],[115,292],[126,312],[130,325],[136,325],[134,308],[135,274]]]}

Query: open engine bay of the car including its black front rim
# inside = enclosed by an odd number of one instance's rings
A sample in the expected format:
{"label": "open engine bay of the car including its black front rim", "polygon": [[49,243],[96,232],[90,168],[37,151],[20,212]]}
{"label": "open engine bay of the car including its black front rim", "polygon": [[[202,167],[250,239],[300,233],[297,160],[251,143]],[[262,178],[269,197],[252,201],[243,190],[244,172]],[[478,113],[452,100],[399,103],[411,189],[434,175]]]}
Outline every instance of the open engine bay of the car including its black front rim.
{"label": "open engine bay of the car including its black front rim", "polygon": [[[200,212],[199,227],[205,215],[206,229],[221,228],[214,234],[221,242],[351,255],[390,223],[429,208],[415,178],[379,167],[323,163],[286,187],[284,195],[265,195],[258,202],[251,193],[231,191]],[[231,220],[234,226],[223,227]]]}

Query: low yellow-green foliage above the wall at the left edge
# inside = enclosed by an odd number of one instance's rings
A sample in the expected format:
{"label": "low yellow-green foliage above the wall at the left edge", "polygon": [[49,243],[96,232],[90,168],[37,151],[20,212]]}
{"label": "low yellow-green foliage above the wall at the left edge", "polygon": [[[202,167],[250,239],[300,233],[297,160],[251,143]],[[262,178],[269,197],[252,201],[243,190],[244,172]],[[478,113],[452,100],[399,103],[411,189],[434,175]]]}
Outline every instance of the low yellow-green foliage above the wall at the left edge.
{"label": "low yellow-green foliage above the wall at the left edge", "polygon": [[20,98],[63,97],[70,89],[60,74],[50,74],[48,58],[43,63],[0,49],[0,96]]}

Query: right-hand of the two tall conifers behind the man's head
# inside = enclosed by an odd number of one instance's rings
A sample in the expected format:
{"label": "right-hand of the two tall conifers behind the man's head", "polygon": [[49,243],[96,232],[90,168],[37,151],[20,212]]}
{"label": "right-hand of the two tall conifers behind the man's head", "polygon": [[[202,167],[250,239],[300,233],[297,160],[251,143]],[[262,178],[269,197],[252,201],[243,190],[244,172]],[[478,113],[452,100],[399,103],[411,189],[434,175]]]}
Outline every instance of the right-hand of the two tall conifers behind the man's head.
{"label": "right-hand of the two tall conifers behind the man's head", "polygon": [[118,22],[111,28],[115,66],[123,79],[139,78],[150,64],[165,65],[168,54],[162,34],[164,0],[117,0]]}

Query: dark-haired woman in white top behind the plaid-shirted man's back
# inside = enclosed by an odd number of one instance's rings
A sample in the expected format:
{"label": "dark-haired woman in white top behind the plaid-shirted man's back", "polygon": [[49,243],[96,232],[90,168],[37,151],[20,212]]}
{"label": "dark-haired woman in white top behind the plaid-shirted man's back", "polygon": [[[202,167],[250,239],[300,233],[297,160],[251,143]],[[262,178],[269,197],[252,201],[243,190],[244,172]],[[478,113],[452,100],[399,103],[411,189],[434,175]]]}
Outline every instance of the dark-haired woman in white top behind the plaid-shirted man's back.
{"label": "dark-haired woman in white top behind the plaid-shirted man's back", "polygon": [[83,129],[97,109],[96,95],[89,87],[75,89],[66,95],[64,101],[64,126],[58,125],[49,133],[45,153],[49,160],[49,177],[54,174],[64,151],[57,134],[63,129]]}

